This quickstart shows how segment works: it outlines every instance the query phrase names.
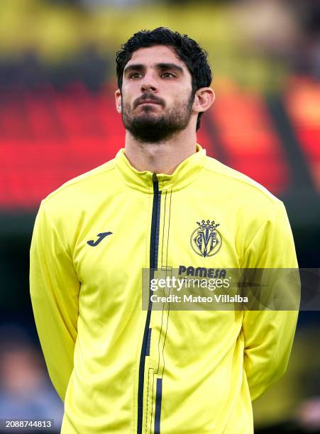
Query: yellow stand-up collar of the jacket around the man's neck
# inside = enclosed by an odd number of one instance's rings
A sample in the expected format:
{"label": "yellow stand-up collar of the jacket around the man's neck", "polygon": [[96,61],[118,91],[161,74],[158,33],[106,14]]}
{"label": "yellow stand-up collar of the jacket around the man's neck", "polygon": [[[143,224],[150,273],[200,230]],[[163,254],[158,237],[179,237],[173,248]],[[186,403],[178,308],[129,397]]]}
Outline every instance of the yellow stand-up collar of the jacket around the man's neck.
{"label": "yellow stand-up collar of the jacket around the man's neck", "polygon": [[[198,177],[204,165],[205,156],[206,150],[197,143],[197,152],[182,161],[175,169],[175,172],[172,174],[157,174],[159,190],[177,191],[187,187]],[[153,194],[153,172],[148,170],[138,172],[128,161],[124,148],[118,151],[115,161],[116,169],[128,187]]]}

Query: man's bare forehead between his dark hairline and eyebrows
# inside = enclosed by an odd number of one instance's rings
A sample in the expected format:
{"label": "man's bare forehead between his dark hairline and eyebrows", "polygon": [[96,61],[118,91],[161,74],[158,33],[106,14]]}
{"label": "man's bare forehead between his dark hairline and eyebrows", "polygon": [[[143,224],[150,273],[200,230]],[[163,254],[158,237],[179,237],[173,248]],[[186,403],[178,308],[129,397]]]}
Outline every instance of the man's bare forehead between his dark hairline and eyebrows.
{"label": "man's bare forehead between his dark hairline and eyebrows", "polygon": [[184,62],[175,53],[175,49],[167,45],[153,45],[153,47],[139,48],[133,52],[126,66],[132,64],[153,66],[157,63],[175,63],[185,71],[188,71]]}

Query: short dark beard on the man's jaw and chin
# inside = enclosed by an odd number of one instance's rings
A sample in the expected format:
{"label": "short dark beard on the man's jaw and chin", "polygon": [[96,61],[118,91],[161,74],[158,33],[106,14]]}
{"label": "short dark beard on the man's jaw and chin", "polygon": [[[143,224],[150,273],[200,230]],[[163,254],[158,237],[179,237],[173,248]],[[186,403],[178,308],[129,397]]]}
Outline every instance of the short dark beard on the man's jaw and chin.
{"label": "short dark beard on the man's jaw and chin", "polygon": [[187,127],[192,113],[193,101],[194,93],[192,92],[187,104],[177,104],[174,109],[161,116],[150,114],[152,109],[148,106],[145,106],[143,113],[134,116],[130,107],[123,104],[123,125],[139,142],[162,142],[172,138]]}

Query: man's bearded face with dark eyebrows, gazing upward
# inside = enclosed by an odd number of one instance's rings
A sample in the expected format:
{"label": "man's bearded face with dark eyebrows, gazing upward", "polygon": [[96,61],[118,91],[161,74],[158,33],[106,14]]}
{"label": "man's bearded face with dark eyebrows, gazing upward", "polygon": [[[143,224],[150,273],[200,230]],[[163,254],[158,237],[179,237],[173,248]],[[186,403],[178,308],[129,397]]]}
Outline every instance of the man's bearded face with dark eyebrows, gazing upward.
{"label": "man's bearded face with dark eyebrows, gazing upward", "polygon": [[140,48],[124,68],[116,99],[133,137],[157,143],[187,127],[194,100],[192,77],[172,47]]}

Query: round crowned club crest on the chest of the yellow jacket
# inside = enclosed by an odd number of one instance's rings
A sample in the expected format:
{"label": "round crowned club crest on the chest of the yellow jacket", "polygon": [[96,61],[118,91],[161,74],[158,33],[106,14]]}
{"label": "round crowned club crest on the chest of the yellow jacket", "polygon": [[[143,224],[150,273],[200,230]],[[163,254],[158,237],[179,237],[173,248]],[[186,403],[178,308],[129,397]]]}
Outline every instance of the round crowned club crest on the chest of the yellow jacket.
{"label": "round crowned club crest on the chest of the yellow jacket", "polygon": [[222,238],[214,220],[197,221],[199,228],[195,229],[190,237],[192,250],[199,256],[207,257],[216,255],[221,249]]}

